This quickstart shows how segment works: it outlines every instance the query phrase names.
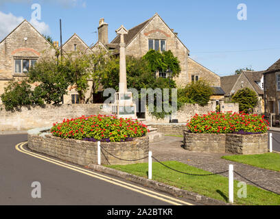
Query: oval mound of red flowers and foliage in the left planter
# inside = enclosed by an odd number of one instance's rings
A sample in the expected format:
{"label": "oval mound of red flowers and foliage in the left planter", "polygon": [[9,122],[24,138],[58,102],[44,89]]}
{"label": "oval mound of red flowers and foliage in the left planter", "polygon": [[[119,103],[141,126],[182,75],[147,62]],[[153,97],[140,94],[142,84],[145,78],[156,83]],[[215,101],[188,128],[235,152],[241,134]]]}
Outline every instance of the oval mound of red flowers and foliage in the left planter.
{"label": "oval mound of red flowers and foliage in the left planter", "polygon": [[54,123],[51,128],[53,136],[91,142],[132,141],[147,132],[147,126],[138,120],[106,115],[65,119],[62,123]]}

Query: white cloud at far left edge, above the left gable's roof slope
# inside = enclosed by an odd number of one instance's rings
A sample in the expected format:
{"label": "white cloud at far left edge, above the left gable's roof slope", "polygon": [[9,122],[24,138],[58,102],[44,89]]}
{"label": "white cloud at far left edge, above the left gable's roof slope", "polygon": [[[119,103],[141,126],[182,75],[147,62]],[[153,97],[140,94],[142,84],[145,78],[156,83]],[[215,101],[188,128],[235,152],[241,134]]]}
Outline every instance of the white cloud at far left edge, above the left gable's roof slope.
{"label": "white cloud at far left edge, above the left gable's roof slope", "polygon": [[0,12],[0,40],[10,34],[23,20],[24,18],[22,16],[16,17],[12,13],[4,14]]}

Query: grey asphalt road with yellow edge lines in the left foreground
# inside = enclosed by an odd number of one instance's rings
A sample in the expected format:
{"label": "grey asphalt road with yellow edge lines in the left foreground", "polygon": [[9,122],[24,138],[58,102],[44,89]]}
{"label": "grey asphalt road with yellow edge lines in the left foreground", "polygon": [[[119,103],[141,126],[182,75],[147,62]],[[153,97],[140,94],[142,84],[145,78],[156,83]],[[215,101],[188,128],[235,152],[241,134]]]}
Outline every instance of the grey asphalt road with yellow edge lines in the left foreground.
{"label": "grey asphalt road with yellow edge lines in the left foreground", "polygon": [[[26,134],[0,136],[0,205],[172,205],[168,198],[159,200],[16,151],[15,145],[25,141]],[[41,198],[32,198],[34,181],[41,185]]]}

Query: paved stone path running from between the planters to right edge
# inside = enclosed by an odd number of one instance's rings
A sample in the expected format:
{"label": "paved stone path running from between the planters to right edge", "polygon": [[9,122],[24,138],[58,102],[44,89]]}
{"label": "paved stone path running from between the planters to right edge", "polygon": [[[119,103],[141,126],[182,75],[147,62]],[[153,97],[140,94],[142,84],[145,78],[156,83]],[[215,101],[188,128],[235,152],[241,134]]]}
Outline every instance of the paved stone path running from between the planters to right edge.
{"label": "paved stone path running from between the planters to right edge", "polygon": [[[207,144],[207,142],[205,142],[205,144]],[[243,175],[247,179],[250,179],[250,181],[264,188],[280,193],[280,172],[231,162],[220,158],[224,155],[231,155],[228,153],[198,153],[187,151],[183,149],[182,146],[183,138],[165,136],[165,140],[150,143],[150,151],[152,151],[152,155],[156,159],[159,159],[159,161],[178,161],[209,172],[229,170],[229,164],[233,164],[234,170],[240,173],[240,175]],[[223,174],[223,176],[228,177],[228,173]],[[234,177],[238,181],[244,181],[253,185],[236,174]]]}

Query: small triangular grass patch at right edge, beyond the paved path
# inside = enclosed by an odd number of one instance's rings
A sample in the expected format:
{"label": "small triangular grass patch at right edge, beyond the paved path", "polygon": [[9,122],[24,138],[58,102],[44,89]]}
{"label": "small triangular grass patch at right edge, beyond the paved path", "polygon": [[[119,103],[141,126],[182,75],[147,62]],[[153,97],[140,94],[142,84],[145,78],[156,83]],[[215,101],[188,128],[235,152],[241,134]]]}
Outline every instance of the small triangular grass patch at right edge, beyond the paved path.
{"label": "small triangular grass patch at right edge, beyond the paved path", "polygon": [[280,171],[280,154],[265,153],[261,155],[231,155],[224,156],[223,159],[228,159],[233,162],[240,162],[251,166],[257,166],[268,170]]}

